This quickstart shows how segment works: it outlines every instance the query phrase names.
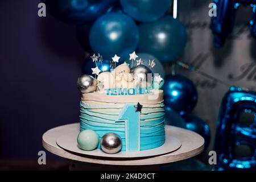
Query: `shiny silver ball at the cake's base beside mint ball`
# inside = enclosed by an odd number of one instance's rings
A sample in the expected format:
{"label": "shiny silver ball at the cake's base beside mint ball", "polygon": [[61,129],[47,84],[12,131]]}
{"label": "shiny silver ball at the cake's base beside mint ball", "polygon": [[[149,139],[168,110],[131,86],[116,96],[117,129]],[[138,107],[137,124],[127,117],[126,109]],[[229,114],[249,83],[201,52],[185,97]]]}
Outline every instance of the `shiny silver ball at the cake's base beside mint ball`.
{"label": "shiny silver ball at the cake's base beside mint ball", "polygon": [[122,140],[115,133],[107,133],[101,138],[101,150],[107,154],[115,154],[122,148]]}

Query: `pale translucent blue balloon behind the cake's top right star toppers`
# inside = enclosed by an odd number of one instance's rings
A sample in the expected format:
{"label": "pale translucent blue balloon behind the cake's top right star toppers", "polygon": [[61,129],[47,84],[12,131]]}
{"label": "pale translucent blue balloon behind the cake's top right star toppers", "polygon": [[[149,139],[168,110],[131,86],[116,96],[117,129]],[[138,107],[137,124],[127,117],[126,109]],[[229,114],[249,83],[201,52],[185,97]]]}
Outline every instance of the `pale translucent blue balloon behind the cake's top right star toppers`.
{"label": "pale translucent blue balloon behind the cake's top right star toppers", "polygon": [[148,53],[137,53],[139,58],[141,58],[144,62],[143,65],[146,65],[148,67],[148,60],[155,60],[155,66],[153,68],[150,67],[152,73],[158,73],[162,78],[166,76],[166,73],[164,72],[164,67],[162,63],[155,57]]}

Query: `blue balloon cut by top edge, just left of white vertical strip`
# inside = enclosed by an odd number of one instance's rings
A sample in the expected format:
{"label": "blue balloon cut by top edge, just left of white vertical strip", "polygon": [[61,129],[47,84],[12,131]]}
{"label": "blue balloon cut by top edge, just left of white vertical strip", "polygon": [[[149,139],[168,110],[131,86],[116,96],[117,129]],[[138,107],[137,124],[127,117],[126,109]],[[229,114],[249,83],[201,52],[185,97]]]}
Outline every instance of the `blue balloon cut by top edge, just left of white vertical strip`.
{"label": "blue balloon cut by top edge, just left of white vertical strip", "polygon": [[141,22],[152,22],[166,13],[171,0],[121,0],[125,13]]}

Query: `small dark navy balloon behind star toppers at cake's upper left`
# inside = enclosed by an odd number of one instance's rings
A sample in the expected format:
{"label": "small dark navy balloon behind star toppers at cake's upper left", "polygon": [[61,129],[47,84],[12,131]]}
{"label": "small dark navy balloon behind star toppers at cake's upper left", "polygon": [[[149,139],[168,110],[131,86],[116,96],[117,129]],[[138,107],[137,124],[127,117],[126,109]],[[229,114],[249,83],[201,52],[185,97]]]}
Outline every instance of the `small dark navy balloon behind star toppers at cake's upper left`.
{"label": "small dark navy balloon behind star toppers at cake's upper left", "polygon": [[[109,60],[102,61],[102,65],[100,62],[97,62],[98,68],[101,71],[108,71],[110,72],[110,64]],[[95,68],[95,62],[93,63],[92,59],[88,57],[85,59],[84,64],[82,65],[82,75],[92,75],[92,68]]]}

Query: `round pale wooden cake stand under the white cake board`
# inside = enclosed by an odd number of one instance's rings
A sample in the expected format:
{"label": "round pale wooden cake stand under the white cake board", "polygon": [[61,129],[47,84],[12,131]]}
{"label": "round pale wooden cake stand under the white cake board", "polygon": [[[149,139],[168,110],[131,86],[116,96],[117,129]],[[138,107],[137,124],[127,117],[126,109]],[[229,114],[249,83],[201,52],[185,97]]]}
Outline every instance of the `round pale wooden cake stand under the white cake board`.
{"label": "round pale wooden cake stand under the white cake board", "polygon": [[204,138],[199,134],[193,131],[168,125],[166,125],[166,132],[179,139],[181,142],[181,147],[168,154],[151,156],[147,158],[101,158],[91,155],[80,155],[71,151],[66,151],[56,144],[57,138],[59,138],[61,135],[77,131],[79,130],[79,127],[79,123],[73,123],[70,125],[55,127],[43,134],[43,147],[52,154],[71,160],[71,170],[155,170],[160,169],[160,166],[163,164],[192,158],[204,150]]}

